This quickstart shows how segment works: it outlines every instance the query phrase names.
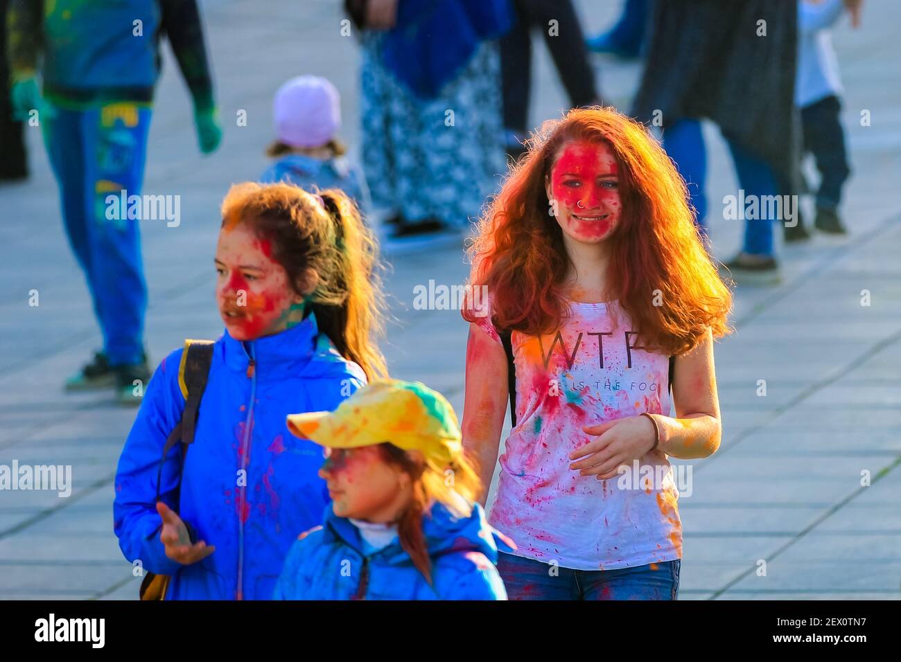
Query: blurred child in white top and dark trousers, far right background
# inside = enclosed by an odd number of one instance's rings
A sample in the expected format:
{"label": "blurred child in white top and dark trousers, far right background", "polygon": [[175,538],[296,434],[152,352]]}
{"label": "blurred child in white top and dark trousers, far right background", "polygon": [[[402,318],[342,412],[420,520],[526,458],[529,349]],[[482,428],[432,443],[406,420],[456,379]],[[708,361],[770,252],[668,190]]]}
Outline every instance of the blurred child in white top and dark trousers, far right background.
{"label": "blurred child in white top and dark trousers, far right background", "polygon": [[[801,110],[804,137],[801,159],[813,154],[820,172],[815,192],[814,227],[827,234],[846,234],[839,205],[842,186],[851,175],[842,130],[842,80],[830,29],[847,10],[851,25],[860,24],[862,0],[799,0],[798,60],[795,103]],[[799,164],[800,165],[800,164]],[[810,235],[797,225],[786,240],[802,240]]]}

